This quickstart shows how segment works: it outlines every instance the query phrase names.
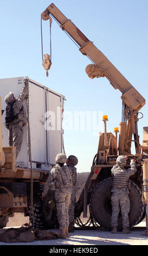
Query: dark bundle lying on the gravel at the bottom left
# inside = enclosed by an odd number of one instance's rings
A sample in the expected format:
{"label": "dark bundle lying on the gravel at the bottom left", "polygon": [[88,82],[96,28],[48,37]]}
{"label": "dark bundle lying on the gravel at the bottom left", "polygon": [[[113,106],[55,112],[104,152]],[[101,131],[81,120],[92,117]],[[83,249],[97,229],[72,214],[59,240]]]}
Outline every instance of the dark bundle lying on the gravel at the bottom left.
{"label": "dark bundle lying on the gravel at the bottom left", "polygon": [[35,240],[50,240],[59,238],[60,234],[54,231],[33,230],[28,223],[21,228],[9,228],[0,234],[0,241],[6,243],[33,242]]}

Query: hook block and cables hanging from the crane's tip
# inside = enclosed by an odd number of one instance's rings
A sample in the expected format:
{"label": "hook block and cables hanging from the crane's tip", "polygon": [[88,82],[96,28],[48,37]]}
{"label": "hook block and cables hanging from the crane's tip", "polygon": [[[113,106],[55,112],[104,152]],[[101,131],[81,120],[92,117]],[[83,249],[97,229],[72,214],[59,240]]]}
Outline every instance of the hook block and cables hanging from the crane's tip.
{"label": "hook block and cables hanging from the crane's tip", "polygon": [[[43,34],[42,34],[42,17],[41,17],[41,45],[42,45],[42,65],[46,70],[46,76],[48,77],[48,70],[52,65],[52,18],[49,16],[49,26],[50,26],[50,55],[43,54]],[[44,58],[43,58],[44,56]]]}

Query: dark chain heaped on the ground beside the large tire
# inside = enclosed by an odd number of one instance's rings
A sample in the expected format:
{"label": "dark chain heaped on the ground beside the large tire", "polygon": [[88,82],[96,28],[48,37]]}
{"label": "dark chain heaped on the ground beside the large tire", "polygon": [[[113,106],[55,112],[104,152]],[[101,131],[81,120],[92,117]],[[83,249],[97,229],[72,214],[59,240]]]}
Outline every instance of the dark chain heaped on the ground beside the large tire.
{"label": "dark chain heaped on the ground beside the large tire", "polygon": [[93,225],[93,227],[99,227],[99,224],[95,221],[92,212],[91,212],[91,205],[89,204],[89,218],[88,221],[86,223],[82,223],[80,217],[76,217],[75,218],[75,224],[78,225],[81,228],[86,228],[86,227],[91,227],[91,224]]}

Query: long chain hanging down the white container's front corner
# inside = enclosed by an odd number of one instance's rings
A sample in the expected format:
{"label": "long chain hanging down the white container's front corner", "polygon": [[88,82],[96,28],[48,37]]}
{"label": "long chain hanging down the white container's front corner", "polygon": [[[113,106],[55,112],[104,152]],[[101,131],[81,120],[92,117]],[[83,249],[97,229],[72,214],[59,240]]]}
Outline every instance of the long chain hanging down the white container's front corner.
{"label": "long chain hanging down the white container's front corner", "polygon": [[29,78],[24,78],[25,86],[27,86],[26,93],[26,108],[27,108],[27,130],[28,130],[28,154],[29,154],[29,162],[30,162],[30,218],[29,224],[32,224],[34,228],[34,191],[33,191],[33,168],[32,168],[32,160],[31,160],[31,136],[30,136],[30,123],[29,123]]}

